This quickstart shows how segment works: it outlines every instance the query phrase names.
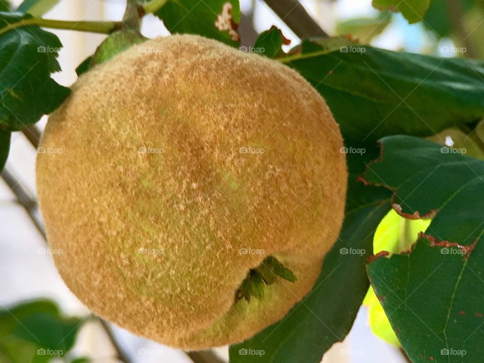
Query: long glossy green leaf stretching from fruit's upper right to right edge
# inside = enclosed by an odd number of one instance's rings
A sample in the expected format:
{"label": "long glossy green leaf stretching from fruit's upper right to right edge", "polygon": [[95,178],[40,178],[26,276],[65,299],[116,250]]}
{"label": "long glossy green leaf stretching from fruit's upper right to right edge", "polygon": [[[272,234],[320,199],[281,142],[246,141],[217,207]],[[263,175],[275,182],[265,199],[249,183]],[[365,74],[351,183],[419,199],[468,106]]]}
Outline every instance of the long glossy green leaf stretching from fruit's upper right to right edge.
{"label": "long glossy green leaf stretching from fruit's upper right to right edge", "polygon": [[281,62],[321,93],[345,138],[428,136],[484,115],[484,62],[337,44],[305,41]]}

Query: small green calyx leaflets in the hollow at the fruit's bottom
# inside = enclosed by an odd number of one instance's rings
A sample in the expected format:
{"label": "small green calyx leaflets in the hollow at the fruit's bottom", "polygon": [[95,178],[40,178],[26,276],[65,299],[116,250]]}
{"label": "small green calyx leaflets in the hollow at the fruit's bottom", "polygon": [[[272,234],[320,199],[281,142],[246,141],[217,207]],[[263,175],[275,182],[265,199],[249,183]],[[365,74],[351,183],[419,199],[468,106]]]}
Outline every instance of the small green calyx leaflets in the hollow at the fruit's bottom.
{"label": "small green calyx leaflets in the hollow at the fruit's bottom", "polygon": [[275,257],[269,256],[258,267],[249,270],[246,278],[235,291],[235,302],[242,298],[249,302],[252,296],[262,299],[265,286],[272,285],[278,278],[290,282],[296,280],[296,276],[290,269]]}

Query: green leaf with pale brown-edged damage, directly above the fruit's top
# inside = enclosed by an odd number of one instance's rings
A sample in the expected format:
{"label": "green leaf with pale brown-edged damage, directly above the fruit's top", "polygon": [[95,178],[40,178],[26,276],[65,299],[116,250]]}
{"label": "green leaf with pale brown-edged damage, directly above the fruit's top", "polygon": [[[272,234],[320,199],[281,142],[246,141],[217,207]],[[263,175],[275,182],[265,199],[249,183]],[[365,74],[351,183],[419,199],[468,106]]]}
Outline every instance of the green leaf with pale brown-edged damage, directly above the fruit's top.
{"label": "green leaf with pale brown-edged damage, directly above the fruit's top", "polygon": [[168,0],[155,15],[170,33],[198,34],[238,46],[238,0]]}

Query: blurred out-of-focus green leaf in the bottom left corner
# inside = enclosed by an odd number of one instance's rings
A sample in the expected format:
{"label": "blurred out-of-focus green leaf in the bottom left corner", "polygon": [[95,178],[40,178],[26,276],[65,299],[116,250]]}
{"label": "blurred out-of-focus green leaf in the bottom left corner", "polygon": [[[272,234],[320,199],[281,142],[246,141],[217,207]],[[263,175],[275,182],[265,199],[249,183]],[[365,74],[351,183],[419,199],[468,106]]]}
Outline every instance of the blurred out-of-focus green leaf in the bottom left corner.
{"label": "blurred out-of-focus green leaf in the bottom left corner", "polygon": [[[43,362],[45,357],[62,356],[74,345],[82,320],[61,316],[57,306],[47,300],[36,300],[0,310],[0,356],[17,363]],[[28,359],[27,359],[28,358]]]}

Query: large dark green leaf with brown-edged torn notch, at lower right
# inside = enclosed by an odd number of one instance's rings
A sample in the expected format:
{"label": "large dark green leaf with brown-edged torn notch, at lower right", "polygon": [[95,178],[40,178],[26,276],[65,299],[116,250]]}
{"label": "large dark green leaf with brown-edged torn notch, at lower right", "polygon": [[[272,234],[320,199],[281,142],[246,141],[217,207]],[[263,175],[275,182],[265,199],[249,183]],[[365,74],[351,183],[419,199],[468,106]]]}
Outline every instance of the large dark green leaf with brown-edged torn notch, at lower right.
{"label": "large dark green leaf with brown-edged torn notch, at lower right", "polygon": [[408,136],[381,144],[367,183],[392,189],[400,215],[435,217],[411,253],[369,264],[372,285],[412,361],[480,361],[484,162]]}

